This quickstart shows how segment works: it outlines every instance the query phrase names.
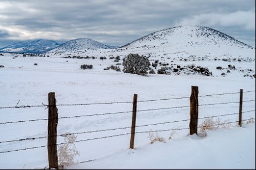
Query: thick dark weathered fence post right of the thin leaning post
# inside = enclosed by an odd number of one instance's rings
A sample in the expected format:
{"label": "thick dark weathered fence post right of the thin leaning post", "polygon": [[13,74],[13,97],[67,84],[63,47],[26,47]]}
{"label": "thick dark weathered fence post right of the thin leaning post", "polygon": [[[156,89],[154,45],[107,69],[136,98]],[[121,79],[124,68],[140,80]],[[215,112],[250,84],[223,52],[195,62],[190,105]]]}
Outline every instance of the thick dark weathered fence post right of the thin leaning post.
{"label": "thick dark weathered fence post right of the thin leaning post", "polygon": [[189,133],[197,134],[197,121],[198,121],[198,87],[192,86],[192,92],[190,96],[190,123]]}

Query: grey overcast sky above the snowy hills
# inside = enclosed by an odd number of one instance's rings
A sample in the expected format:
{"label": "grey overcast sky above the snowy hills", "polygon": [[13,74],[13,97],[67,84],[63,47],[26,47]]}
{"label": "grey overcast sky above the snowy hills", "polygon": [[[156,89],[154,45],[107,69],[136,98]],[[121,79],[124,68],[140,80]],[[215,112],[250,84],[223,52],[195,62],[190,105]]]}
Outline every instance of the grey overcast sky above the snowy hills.
{"label": "grey overcast sky above the snowy hills", "polygon": [[177,25],[207,26],[255,47],[255,0],[0,0],[0,47],[81,37],[124,45]]}

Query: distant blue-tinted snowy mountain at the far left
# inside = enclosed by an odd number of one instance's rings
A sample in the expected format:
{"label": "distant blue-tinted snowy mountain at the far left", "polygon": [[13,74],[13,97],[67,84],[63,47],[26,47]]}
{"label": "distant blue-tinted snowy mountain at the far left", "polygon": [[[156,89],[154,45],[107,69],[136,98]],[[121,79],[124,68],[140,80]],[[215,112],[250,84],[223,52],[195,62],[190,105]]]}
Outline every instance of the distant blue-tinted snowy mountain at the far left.
{"label": "distant blue-tinted snowy mountain at the far left", "polygon": [[46,53],[59,46],[60,44],[52,40],[27,40],[1,48],[0,52],[9,53]]}

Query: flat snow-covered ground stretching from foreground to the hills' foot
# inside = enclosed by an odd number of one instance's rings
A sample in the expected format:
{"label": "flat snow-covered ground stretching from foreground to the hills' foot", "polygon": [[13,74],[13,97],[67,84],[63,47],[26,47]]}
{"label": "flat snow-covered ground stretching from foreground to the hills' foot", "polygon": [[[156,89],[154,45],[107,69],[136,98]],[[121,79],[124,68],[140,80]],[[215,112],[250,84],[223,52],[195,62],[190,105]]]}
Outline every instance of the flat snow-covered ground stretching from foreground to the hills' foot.
{"label": "flat snow-covered ground stretching from foreground to the hills' foot", "polygon": [[[48,104],[48,93],[55,92],[57,104],[79,103],[105,103],[115,101],[133,101],[133,95],[138,94],[138,100],[168,99],[174,97],[189,97],[191,86],[199,86],[199,95],[221,94],[255,90],[255,78],[244,76],[255,74],[255,50],[240,52],[242,56],[224,56],[223,53],[211,54],[202,58],[197,52],[195,61],[188,57],[193,53],[171,54],[171,50],[150,52],[139,48],[115,50],[83,50],[75,53],[48,53],[50,57],[22,57],[18,54],[4,54],[0,56],[0,107],[18,105]],[[159,59],[161,62],[175,63],[176,65],[195,64],[208,67],[213,76],[203,75],[159,75],[148,76],[124,74],[114,70],[104,70],[107,66],[115,65],[113,57],[122,58],[129,53],[148,55],[152,53],[151,62]],[[216,52],[217,53],[217,52]],[[234,51],[230,51],[234,53]],[[96,59],[61,58],[67,56],[95,56]],[[179,55],[179,56],[177,56]],[[183,56],[184,55],[184,56]],[[16,56],[16,57],[15,57]],[[106,56],[103,61],[100,56]],[[13,58],[14,57],[14,58]],[[163,58],[162,58],[163,57]],[[179,58],[177,58],[179,57]],[[180,58],[183,60],[180,61]],[[214,57],[220,61],[214,61]],[[249,57],[251,60],[246,60]],[[168,59],[169,58],[169,59]],[[184,58],[188,58],[184,61]],[[222,61],[230,58],[230,62]],[[243,58],[238,62],[233,58]],[[174,62],[171,62],[174,61]],[[38,63],[38,65],[34,65]],[[80,65],[91,64],[93,69],[81,70]],[[217,66],[227,68],[236,66],[237,70],[216,70]],[[121,66],[122,69],[122,66]],[[158,66],[155,71],[160,69]],[[251,69],[242,72],[239,70]],[[227,74],[221,76],[221,73]],[[250,73],[249,73],[250,72]],[[239,101],[239,94],[200,97],[199,104],[226,103]],[[243,94],[243,100],[254,100],[255,92]],[[138,110],[167,107],[188,106],[189,99],[162,100],[138,103]],[[111,112],[131,111],[133,105],[106,104],[106,105],[79,105],[59,106],[59,117],[79,116],[86,114],[100,114]],[[199,117],[220,114],[238,113],[239,103],[208,105],[199,108]],[[243,111],[255,109],[255,101],[243,103]],[[1,122],[34,120],[47,118],[48,110],[44,108],[15,108],[0,109]],[[255,117],[255,111],[243,114],[243,118]],[[238,115],[220,117],[222,121],[237,121]],[[161,122],[189,119],[189,107],[178,109],[165,109],[137,113],[137,125],[158,124]],[[202,120],[199,120],[199,125]],[[122,128],[131,126],[131,113],[108,114],[102,116],[63,118],[59,120],[58,134],[77,133],[83,131]],[[189,121],[143,126],[137,131],[164,130],[172,128],[188,128]],[[23,122],[15,124],[1,124],[1,141],[20,138],[42,137],[47,135],[47,121]],[[130,129],[115,131],[102,131],[77,135],[77,141],[90,138],[105,137],[109,135],[130,133]],[[255,124],[246,125],[245,128],[232,130],[213,130],[208,136],[200,138],[188,136],[188,130],[177,131],[174,140],[168,141],[171,131],[159,132],[159,136],[167,143],[149,145],[148,134],[136,134],[135,150],[129,150],[130,137],[98,139],[94,141],[77,142],[76,147],[80,156],[76,162],[85,160],[96,161],[79,164],[70,168],[255,168]],[[63,137],[57,138],[57,143],[63,142]],[[0,143],[0,152],[27,147],[47,145],[47,139],[34,141],[19,141]],[[44,168],[48,164],[47,148],[36,148],[17,152],[0,154],[1,168]]]}

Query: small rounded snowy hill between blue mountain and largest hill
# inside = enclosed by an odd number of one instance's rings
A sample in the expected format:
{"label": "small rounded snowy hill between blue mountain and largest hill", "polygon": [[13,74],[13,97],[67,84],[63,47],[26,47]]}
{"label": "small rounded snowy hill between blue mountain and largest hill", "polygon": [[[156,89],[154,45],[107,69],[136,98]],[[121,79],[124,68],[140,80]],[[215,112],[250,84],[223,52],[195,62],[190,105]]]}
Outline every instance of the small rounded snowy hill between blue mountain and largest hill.
{"label": "small rounded snowy hill between blue mountain and largest hill", "polygon": [[60,45],[54,51],[73,51],[73,50],[83,50],[83,49],[109,49],[116,48],[116,46],[104,45],[100,42],[94,41],[92,39],[75,39],[65,42]]}

